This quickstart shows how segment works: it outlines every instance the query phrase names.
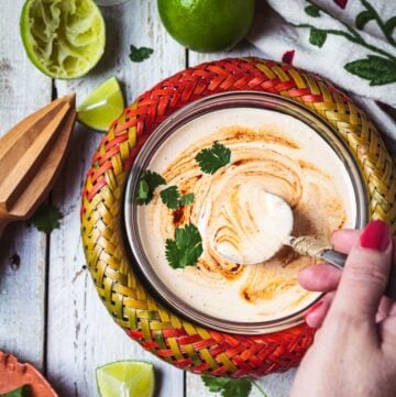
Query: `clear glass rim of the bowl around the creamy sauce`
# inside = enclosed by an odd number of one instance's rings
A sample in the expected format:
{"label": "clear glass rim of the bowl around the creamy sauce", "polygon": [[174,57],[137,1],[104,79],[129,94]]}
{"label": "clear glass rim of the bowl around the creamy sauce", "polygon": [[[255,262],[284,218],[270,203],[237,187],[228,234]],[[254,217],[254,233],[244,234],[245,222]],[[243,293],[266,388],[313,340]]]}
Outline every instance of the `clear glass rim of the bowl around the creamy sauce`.
{"label": "clear glass rim of the bowl around the creamy sauce", "polygon": [[366,186],[354,156],[342,136],[318,114],[295,101],[266,92],[231,91],[206,97],[182,108],[161,123],[144,143],[134,161],[125,189],[124,225],[128,243],[134,258],[132,263],[136,265],[138,272],[144,277],[152,291],[164,305],[169,306],[186,319],[215,330],[230,333],[263,334],[276,332],[301,323],[306,310],[315,304],[315,301],[320,299],[321,295],[318,295],[317,299],[302,309],[289,316],[270,321],[235,322],[209,316],[174,294],[161,277],[158,277],[144,252],[139,235],[138,205],[134,198],[136,196],[141,172],[147,168],[151,158],[158,147],[180,126],[209,112],[230,108],[272,110],[292,115],[314,129],[344,164],[356,198],[355,228],[360,229],[365,225],[369,220]]}

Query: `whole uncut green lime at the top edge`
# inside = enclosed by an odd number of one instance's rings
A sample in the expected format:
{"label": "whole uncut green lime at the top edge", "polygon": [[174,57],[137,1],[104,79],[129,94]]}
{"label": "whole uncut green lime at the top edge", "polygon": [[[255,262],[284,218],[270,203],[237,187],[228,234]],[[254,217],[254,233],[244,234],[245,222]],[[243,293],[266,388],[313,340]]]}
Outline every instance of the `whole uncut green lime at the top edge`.
{"label": "whole uncut green lime at the top edge", "polygon": [[232,48],[245,36],[255,0],[158,0],[161,20],[185,47],[200,53]]}

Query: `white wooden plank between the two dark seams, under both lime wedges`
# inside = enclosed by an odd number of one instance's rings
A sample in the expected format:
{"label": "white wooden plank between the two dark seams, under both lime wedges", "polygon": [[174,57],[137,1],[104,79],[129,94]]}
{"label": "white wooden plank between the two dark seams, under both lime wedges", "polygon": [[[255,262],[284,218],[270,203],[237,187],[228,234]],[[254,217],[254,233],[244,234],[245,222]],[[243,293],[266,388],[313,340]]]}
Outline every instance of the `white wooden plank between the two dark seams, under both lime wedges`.
{"label": "white wooden plank between the two dark seams, under both lime wedges", "polygon": [[[128,101],[185,66],[185,51],[157,19],[156,1],[135,0],[106,9],[106,57],[86,78],[58,81],[58,95],[77,91],[77,101],[99,82],[116,75]],[[129,46],[154,48],[141,64],[129,59]],[[79,231],[80,191],[90,159],[102,134],[78,126],[66,167],[54,189],[54,202],[65,214],[51,236],[47,374],[62,396],[97,396],[95,368],[117,360],[155,364],[160,397],[182,397],[184,373],[146,353],[113,323],[82,267]]]}

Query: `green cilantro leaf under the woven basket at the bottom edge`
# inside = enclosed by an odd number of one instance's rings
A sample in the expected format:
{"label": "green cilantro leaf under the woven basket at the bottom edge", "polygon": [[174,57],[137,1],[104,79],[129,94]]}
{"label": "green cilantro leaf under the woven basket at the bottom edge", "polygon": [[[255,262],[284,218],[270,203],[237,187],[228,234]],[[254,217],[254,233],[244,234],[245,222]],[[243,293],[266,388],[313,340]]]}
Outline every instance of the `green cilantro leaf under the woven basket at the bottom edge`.
{"label": "green cilantro leaf under the woven basket at the bottom edge", "polygon": [[222,397],[248,397],[252,390],[252,381],[249,378],[230,379],[204,375],[202,382],[210,392],[220,392]]}

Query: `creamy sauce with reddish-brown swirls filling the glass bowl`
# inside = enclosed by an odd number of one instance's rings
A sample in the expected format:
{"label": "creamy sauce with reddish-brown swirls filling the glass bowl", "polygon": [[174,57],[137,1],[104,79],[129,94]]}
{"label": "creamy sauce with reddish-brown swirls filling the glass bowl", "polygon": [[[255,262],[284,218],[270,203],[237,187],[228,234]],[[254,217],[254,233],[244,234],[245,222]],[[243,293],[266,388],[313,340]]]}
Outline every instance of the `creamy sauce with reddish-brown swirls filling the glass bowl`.
{"label": "creamy sauce with reddish-brown swirls filling the glass bowl", "polygon": [[[231,163],[208,175],[195,156],[213,142],[231,150]],[[205,114],[177,130],[147,168],[183,195],[194,192],[195,200],[169,210],[157,189],[151,203],[139,208],[146,256],[176,296],[217,318],[274,320],[301,310],[318,296],[297,283],[298,272],[315,260],[289,247],[246,265],[287,229],[279,218],[285,212],[265,207],[265,192],[292,208],[295,236],[317,235],[329,243],[332,230],[354,227],[355,197],[342,162],[311,128],[286,114],[248,108]],[[272,217],[273,228],[263,227],[265,217]],[[189,222],[200,231],[204,253],[198,266],[173,269],[165,240]],[[263,230],[273,233],[261,244]]]}

